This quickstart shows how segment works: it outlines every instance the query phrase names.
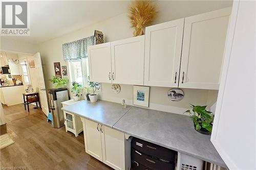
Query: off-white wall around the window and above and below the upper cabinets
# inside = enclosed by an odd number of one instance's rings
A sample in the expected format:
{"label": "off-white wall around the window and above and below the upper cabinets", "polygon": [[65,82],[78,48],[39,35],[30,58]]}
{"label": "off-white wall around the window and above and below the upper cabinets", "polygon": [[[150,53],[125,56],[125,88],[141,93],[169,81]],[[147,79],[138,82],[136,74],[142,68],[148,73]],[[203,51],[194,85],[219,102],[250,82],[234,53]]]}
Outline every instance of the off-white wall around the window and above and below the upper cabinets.
{"label": "off-white wall around the window and above and below the upper cabinets", "polygon": [[[159,12],[153,24],[230,7],[231,4],[232,2],[230,1],[161,1],[158,2]],[[42,64],[45,66],[47,88],[53,87],[49,81],[54,76],[53,62],[60,62],[61,65],[67,65],[67,62],[62,58],[61,45],[91,36],[94,34],[94,30],[103,32],[104,42],[132,37],[134,31],[127,18],[127,13],[124,13],[90,27],[39,44]],[[183,89],[185,94],[184,99],[180,102],[172,102],[167,98],[169,89],[165,87],[151,87],[150,107],[152,109],[181,113],[185,108],[189,107],[189,103],[195,105],[213,104],[218,95],[217,90]],[[111,84],[102,83],[100,98],[118,103],[121,103],[122,99],[126,99],[127,103],[130,104],[133,98],[133,86],[121,85],[121,92],[115,94],[111,91]]]}

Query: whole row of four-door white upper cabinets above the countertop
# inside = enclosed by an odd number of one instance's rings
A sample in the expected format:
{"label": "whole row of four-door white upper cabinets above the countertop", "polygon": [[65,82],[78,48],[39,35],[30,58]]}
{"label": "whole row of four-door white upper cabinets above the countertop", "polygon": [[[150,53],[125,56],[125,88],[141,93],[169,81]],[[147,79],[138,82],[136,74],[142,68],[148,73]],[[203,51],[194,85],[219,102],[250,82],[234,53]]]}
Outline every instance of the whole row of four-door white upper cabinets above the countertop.
{"label": "whole row of four-door white upper cabinets above the countertop", "polygon": [[146,27],[145,35],[89,46],[90,80],[219,89],[231,8]]}

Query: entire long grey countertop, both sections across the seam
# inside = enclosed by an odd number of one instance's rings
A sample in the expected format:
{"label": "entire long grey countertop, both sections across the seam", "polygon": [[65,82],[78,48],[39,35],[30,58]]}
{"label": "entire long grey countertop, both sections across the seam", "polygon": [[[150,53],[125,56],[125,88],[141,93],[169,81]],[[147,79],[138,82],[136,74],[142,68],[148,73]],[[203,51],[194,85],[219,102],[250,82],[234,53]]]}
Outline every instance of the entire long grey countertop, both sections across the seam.
{"label": "entire long grey countertop, both sections across the seam", "polygon": [[62,110],[162,147],[227,167],[210,142],[210,136],[197,132],[192,120],[186,115],[134,106],[123,108],[121,104],[106,101],[81,101]]}

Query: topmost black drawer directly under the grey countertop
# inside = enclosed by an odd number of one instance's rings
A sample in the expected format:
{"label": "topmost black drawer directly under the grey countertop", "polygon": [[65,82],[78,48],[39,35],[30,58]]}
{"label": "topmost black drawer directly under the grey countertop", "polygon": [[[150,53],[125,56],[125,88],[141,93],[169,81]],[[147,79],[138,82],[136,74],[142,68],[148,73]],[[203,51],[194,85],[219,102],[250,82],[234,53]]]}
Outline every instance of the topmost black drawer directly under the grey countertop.
{"label": "topmost black drawer directly under the grey countertop", "polygon": [[147,142],[145,140],[134,137],[132,140],[132,147],[135,150],[140,151],[146,155],[157,157],[163,160],[168,160],[170,162],[175,161],[175,151],[161,147],[151,142]]}

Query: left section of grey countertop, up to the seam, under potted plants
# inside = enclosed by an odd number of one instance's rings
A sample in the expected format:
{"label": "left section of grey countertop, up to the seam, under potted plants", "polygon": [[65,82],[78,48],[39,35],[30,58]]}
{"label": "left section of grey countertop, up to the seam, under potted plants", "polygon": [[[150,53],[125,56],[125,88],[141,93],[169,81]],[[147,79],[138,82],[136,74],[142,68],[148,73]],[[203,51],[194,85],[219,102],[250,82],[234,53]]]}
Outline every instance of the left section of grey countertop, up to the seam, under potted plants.
{"label": "left section of grey countertop, up to the seam, under potted plants", "polygon": [[80,101],[73,105],[65,106],[62,110],[78,114],[81,117],[112,128],[130,108],[131,106],[123,108],[121,104],[99,100],[95,103]]}

